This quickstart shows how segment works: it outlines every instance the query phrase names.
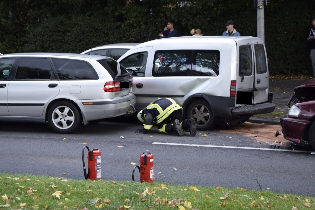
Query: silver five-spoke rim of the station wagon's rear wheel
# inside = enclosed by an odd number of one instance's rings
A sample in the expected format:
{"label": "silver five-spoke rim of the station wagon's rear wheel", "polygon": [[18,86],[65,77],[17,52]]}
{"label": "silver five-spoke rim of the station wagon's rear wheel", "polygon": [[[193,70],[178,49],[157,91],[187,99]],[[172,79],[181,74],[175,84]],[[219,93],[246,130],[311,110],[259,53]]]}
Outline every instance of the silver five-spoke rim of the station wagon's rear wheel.
{"label": "silver five-spoke rim of the station wagon's rear wheel", "polygon": [[55,108],[51,117],[54,125],[60,129],[70,128],[75,119],[73,111],[67,106]]}

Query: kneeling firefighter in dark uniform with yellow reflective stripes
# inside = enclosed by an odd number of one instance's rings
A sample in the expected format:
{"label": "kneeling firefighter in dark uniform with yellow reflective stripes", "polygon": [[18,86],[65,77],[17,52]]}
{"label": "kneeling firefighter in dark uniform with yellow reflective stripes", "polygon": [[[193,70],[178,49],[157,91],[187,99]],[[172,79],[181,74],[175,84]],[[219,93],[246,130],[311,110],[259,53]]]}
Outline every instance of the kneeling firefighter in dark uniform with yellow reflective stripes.
{"label": "kneeling firefighter in dark uniform with yellow reflective stripes", "polygon": [[138,119],[143,122],[143,127],[136,133],[148,133],[153,123],[157,124],[159,132],[175,132],[179,136],[184,131],[189,131],[191,136],[197,133],[195,119],[183,120],[183,108],[171,98],[158,98],[145,109],[139,111]]}

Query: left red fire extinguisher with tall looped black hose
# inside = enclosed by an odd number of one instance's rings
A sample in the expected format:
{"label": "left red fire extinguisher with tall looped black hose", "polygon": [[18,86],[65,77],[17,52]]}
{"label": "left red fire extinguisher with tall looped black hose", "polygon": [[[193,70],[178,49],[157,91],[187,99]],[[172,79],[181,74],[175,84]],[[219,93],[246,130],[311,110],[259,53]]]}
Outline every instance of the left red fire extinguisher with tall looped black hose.
{"label": "left red fire extinguisher with tall looped black hose", "polygon": [[[84,149],[88,149],[88,173],[86,173],[84,163]],[[100,172],[100,150],[90,150],[88,146],[83,147],[82,150],[82,162],[83,162],[83,173],[85,179],[99,180],[101,178]]]}

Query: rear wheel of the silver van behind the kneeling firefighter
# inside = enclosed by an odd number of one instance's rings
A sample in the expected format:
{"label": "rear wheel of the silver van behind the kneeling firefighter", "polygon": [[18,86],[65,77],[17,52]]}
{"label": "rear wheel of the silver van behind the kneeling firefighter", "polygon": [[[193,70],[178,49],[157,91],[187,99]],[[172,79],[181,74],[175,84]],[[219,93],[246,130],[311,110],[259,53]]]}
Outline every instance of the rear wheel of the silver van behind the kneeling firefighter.
{"label": "rear wheel of the silver van behind the kneeling firefighter", "polygon": [[192,102],[188,106],[186,116],[187,118],[194,118],[196,120],[197,130],[208,130],[209,128],[213,128],[217,122],[209,103],[204,100]]}

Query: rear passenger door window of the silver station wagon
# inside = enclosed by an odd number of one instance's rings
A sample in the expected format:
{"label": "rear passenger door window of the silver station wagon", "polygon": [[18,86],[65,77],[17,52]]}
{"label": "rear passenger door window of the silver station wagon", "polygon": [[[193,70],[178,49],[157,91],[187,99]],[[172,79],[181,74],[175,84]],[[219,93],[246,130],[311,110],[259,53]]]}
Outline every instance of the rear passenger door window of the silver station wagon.
{"label": "rear passenger door window of the silver station wagon", "polygon": [[50,79],[52,69],[47,58],[20,58],[16,70],[16,80]]}

